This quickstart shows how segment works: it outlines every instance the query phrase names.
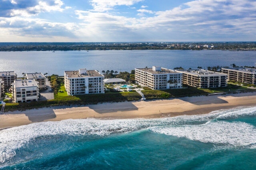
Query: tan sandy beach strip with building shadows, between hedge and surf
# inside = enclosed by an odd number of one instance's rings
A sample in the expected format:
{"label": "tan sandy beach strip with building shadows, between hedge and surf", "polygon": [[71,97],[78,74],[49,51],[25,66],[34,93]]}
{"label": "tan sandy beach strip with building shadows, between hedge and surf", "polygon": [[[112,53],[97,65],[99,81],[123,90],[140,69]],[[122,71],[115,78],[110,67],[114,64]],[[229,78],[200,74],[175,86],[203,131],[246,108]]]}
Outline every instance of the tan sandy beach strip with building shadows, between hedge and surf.
{"label": "tan sandy beach strip with building shadows, between hedge and surf", "polygon": [[183,97],[151,101],[102,103],[86,106],[56,106],[0,115],[0,129],[42,121],[65,119],[134,119],[207,114],[220,109],[256,106],[256,93]]}

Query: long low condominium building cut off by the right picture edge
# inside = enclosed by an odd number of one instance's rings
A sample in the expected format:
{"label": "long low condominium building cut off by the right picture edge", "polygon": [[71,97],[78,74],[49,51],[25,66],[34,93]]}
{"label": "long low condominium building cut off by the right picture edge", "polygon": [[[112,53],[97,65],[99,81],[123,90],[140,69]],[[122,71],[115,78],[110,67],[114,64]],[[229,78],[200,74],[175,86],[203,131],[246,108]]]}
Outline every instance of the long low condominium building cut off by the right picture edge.
{"label": "long low condominium building cut off by the right picture edge", "polygon": [[228,80],[256,85],[256,69],[247,67],[221,68],[228,75]]}

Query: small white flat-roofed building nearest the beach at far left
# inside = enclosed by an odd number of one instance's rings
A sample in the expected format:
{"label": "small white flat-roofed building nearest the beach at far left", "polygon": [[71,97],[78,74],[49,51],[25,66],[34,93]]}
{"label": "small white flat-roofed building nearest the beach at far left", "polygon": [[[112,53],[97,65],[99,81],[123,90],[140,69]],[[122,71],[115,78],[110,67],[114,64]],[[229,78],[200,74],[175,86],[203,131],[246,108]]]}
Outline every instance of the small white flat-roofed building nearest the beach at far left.
{"label": "small white flat-roofed building nearest the beach at far left", "polygon": [[39,87],[34,79],[18,79],[12,83],[14,103],[38,101]]}

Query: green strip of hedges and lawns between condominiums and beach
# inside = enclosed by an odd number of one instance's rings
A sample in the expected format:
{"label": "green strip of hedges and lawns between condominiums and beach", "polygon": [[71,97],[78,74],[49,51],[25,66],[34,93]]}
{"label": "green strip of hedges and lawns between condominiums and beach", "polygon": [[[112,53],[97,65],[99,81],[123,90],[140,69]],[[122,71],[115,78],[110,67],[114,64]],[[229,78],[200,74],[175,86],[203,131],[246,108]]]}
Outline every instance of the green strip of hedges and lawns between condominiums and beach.
{"label": "green strip of hedges and lawns between condominiums and beach", "polygon": [[[138,101],[142,97],[135,91],[131,92],[118,92],[114,91],[114,85],[106,85],[104,94],[90,94],[90,95],[76,95],[68,96],[64,87],[63,78],[58,76],[51,77],[52,87],[54,89],[54,99],[48,101],[38,101],[31,103],[6,103],[5,111],[11,110],[24,110],[34,109],[40,107],[50,107],[56,105],[89,105],[104,102],[123,102],[123,101]],[[137,87],[142,88],[137,85]],[[184,85],[186,87],[186,85]],[[250,87],[250,85],[249,85]],[[126,88],[125,88],[126,89]],[[229,83],[228,87],[224,88],[212,88],[212,89],[198,89],[188,86],[183,89],[166,89],[166,90],[152,90],[148,87],[143,87],[143,94],[147,100],[150,99],[169,99],[176,97],[187,96],[199,96],[208,95],[209,93],[238,93],[255,91],[254,89],[248,89],[246,86],[239,84]],[[6,93],[10,96],[11,93]]]}

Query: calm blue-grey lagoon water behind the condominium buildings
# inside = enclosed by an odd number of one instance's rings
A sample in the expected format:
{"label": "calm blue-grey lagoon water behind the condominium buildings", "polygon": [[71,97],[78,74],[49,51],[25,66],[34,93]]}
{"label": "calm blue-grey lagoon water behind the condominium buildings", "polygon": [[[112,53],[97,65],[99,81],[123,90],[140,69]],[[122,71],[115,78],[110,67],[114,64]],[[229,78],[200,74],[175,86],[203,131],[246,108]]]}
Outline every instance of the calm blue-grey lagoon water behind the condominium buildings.
{"label": "calm blue-grey lagoon water behind the condominium buildings", "polygon": [[64,71],[80,68],[128,71],[134,68],[161,66],[168,69],[198,66],[254,66],[255,51],[221,50],[106,50],[106,51],[0,51],[0,71],[49,73],[64,75]]}

